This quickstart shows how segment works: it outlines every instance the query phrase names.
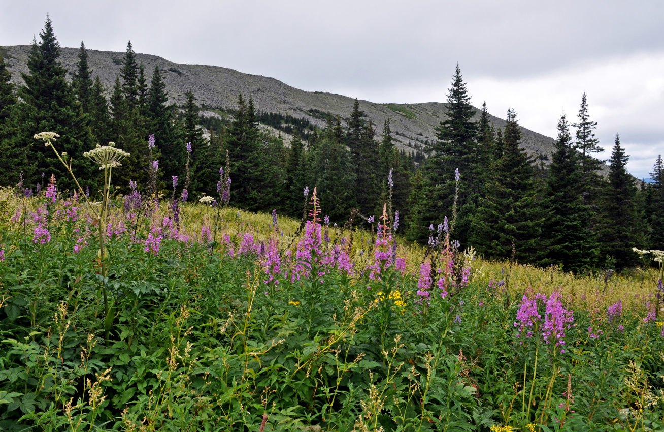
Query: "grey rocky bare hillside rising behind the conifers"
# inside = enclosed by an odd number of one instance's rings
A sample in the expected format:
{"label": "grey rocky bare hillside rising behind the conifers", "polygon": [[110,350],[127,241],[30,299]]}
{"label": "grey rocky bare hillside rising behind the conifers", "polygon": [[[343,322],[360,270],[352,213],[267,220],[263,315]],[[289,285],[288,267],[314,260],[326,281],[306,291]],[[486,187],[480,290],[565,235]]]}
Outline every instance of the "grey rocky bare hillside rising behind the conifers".
{"label": "grey rocky bare hillside rising behind the conifers", "polygon": [[[12,80],[21,83],[21,72],[27,72],[29,45],[0,47],[0,54],[9,63]],[[76,70],[78,61],[77,48],[62,48],[60,60],[70,72]],[[124,53],[88,50],[88,62],[92,76],[98,75],[110,95],[116,76],[120,74]],[[193,92],[199,104],[222,109],[235,109],[238,94],[245,98],[252,96],[254,105],[263,112],[289,114],[296,118],[309,120],[318,126],[325,125],[325,114],[347,118],[353,110],[353,98],[326,92],[305,92],[291,87],[284,82],[269,78],[244,74],[237,70],[220,66],[200,64],[178,64],[149,54],[136,54],[136,60],[145,66],[149,78],[155,66],[162,72],[169,95],[169,102],[183,104],[185,94]],[[436,140],[436,126],[446,119],[446,104],[426,102],[423,104],[376,104],[367,100],[360,101],[360,109],[367,114],[367,119],[376,125],[376,132],[382,132],[385,120],[390,120],[390,127],[400,148],[426,148]],[[479,110],[476,118],[479,119]],[[491,116],[491,122],[505,127],[505,120]],[[530,154],[539,156],[545,163],[550,162],[554,151],[554,139],[526,128],[521,128],[522,147]]]}

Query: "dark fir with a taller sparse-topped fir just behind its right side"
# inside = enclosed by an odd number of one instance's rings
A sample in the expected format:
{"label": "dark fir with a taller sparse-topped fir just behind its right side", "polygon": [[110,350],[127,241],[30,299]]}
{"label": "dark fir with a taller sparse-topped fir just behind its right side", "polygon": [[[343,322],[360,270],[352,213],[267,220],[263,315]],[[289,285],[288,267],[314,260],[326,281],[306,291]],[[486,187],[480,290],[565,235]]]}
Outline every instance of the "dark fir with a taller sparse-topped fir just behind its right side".
{"label": "dark fir with a taller sparse-topped fir just behind its right side", "polygon": [[580,154],[572,147],[565,114],[558,122],[555,147],[542,203],[545,218],[539,265],[562,264],[564,270],[587,272],[597,263],[599,247],[588,227],[591,214],[580,192]]}

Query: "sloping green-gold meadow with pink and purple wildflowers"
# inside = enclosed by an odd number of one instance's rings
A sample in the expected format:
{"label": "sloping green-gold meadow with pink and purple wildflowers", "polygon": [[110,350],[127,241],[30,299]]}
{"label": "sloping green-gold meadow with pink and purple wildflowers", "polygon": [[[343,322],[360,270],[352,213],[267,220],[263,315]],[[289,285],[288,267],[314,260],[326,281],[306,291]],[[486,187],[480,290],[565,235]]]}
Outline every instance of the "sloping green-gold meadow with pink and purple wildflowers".
{"label": "sloping green-gold meadow with pink and purple wildflowers", "polygon": [[664,430],[657,252],[574,276],[106,168],[98,202],[0,189],[2,430]]}

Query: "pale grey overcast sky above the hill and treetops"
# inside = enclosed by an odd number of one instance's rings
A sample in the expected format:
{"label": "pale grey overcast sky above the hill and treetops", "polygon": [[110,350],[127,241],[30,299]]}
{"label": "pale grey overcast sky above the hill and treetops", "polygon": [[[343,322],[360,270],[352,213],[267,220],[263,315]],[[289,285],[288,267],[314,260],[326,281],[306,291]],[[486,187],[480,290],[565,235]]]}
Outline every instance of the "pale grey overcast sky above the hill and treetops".
{"label": "pale grey overcast sky above the hill and treetops", "polygon": [[39,39],[271,76],[372,102],[445,102],[459,63],[471,102],[555,137],[586,92],[609,158],[664,154],[664,1],[0,0],[0,45]]}

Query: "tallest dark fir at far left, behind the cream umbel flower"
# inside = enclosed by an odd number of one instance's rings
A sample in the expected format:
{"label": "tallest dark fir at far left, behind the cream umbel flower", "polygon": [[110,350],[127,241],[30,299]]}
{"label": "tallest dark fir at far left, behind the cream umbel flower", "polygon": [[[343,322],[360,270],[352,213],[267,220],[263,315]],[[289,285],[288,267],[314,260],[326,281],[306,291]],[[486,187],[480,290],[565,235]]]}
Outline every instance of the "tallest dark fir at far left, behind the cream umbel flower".
{"label": "tallest dark fir at far left, behind the cream umbel flower", "polygon": [[28,157],[35,162],[36,170],[25,173],[27,179],[37,181],[35,171],[53,173],[62,189],[72,189],[74,184],[65,167],[33,135],[44,131],[60,134],[56,146],[72,158],[74,175],[91,182],[98,180],[97,171],[83,153],[92,148],[94,137],[88,124],[80,121],[84,114],[64,78],[66,70],[60,62],[60,44],[48,16],[39,37],[39,43],[35,39],[28,54],[29,73],[21,74],[24,84],[18,92],[20,102],[13,110],[13,122],[19,133],[12,138],[11,145],[29,149]]}

